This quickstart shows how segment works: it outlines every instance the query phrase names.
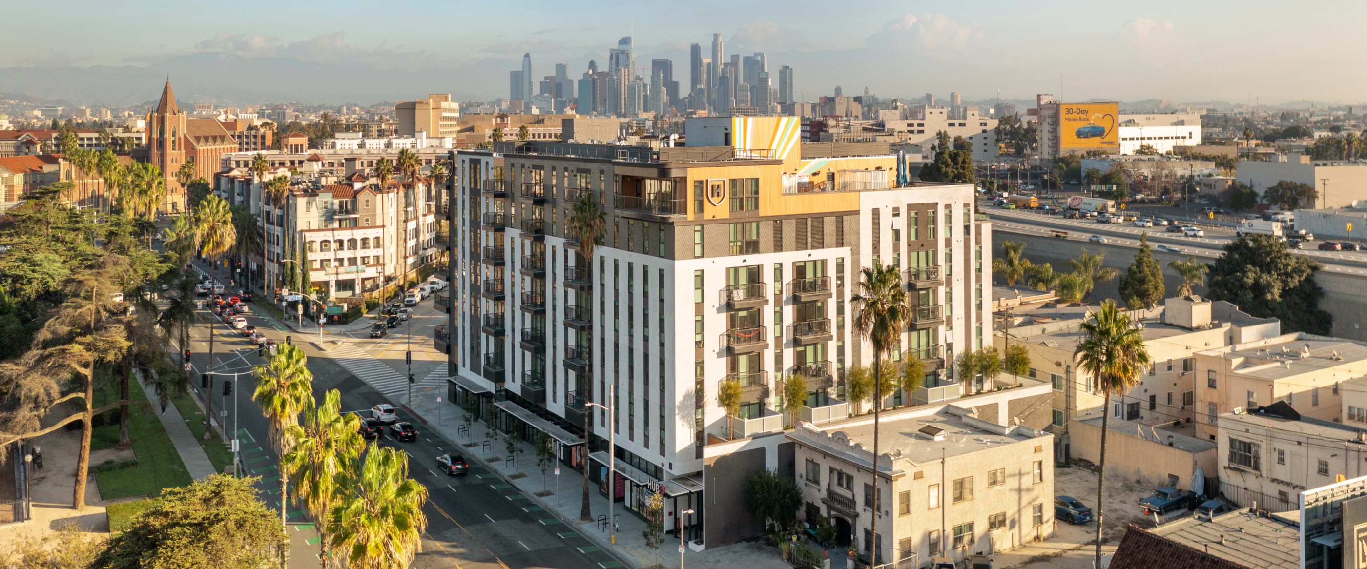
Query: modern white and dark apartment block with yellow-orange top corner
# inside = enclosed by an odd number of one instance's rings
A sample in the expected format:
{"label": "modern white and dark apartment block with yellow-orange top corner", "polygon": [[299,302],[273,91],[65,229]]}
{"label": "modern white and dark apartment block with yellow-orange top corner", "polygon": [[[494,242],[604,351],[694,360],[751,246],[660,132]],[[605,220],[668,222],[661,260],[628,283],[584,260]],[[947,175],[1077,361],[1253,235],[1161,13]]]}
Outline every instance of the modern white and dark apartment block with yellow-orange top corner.
{"label": "modern white and dark apartment block with yellow-orange top corner", "polygon": [[[615,461],[627,510],[664,488],[664,527],[694,509],[685,538],[704,546],[763,531],[733,525],[727,503],[748,472],[787,468],[774,450],[783,382],[804,382],[804,420],[849,414],[845,369],[871,364],[853,330],[861,268],[902,271],[915,308],[891,360],[923,360],[927,384],[991,342],[991,226],[971,185],[895,187],[886,145],[801,145],[794,118],[685,131],[688,148],[458,150],[448,401],[476,398],[522,438],[551,434],[600,484]],[[569,231],[584,194],[606,216],[593,259]],[[734,421],[722,382],[742,391]],[[611,406],[611,427],[588,403]]]}

